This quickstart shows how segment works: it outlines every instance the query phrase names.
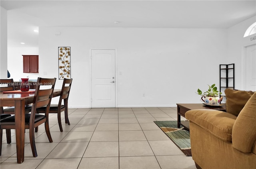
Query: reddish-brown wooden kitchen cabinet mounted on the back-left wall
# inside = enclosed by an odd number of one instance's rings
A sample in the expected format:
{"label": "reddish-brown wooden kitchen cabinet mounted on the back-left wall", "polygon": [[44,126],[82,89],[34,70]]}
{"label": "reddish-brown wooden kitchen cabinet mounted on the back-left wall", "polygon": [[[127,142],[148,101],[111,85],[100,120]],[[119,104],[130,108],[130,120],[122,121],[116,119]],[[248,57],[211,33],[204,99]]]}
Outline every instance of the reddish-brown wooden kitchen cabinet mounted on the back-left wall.
{"label": "reddish-brown wooden kitchen cabinet mounted on the back-left wall", "polygon": [[38,73],[38,55],[23,56],[23,73]]}

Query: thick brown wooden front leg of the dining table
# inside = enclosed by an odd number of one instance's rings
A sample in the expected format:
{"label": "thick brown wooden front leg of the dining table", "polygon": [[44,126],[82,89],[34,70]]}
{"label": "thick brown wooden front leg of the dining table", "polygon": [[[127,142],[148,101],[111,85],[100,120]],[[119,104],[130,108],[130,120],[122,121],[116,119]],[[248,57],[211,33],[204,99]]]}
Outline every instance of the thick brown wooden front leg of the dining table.
{"label": "thick brown wooden front leg of the dining table", "polygon": [[25,144],[25,101],[15,101],[15,131],[16,131],[16,151],[17,163],[24,161]]}

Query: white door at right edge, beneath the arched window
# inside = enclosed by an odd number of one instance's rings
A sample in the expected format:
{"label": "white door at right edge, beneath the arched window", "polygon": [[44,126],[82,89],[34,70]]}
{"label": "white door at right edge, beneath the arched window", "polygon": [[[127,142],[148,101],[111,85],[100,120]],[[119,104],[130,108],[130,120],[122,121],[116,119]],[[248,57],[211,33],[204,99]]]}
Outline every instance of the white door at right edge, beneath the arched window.
{"label": "white door at right edge, beneath the arched window", "polygon": [[246,90],[256,91],[256,45],[246,47]]}

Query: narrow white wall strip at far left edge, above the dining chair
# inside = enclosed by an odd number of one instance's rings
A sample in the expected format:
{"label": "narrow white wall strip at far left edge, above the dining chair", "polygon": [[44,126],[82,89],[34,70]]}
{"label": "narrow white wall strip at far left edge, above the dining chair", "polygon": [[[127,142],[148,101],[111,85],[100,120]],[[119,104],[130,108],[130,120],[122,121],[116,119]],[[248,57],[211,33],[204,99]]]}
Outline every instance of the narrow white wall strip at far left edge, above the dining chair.
{"label": "narrow white wall strip at far left edge, above the dining chair", "polygon": [[0,7],[0,78],[7,79],[7,10]]}

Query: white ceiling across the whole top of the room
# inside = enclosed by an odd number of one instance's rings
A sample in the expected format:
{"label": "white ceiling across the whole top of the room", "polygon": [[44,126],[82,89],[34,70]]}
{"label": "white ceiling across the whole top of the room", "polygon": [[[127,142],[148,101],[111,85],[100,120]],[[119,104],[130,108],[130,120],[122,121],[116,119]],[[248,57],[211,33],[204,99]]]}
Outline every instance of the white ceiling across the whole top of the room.
{"label": "white ceiling across the whole top of the room", "polygon": [[33,30],[40,26],[230,28],[256,15],[256,0],[1,0],[0,5],[8,10],[8,47],[38,47]]}

